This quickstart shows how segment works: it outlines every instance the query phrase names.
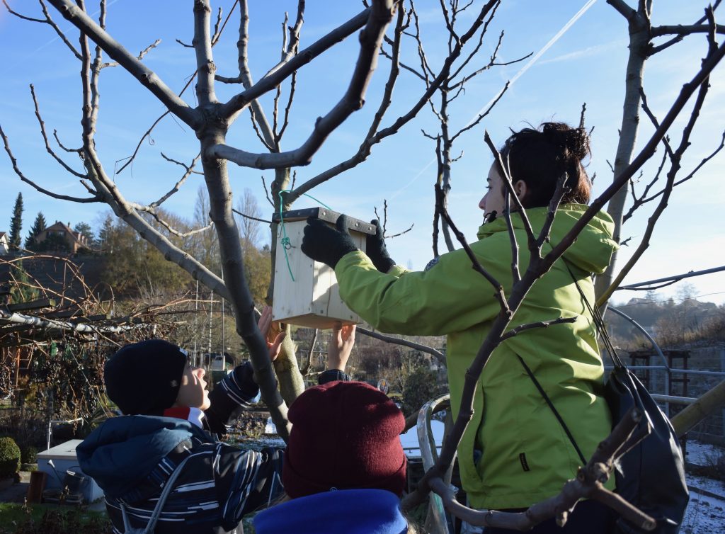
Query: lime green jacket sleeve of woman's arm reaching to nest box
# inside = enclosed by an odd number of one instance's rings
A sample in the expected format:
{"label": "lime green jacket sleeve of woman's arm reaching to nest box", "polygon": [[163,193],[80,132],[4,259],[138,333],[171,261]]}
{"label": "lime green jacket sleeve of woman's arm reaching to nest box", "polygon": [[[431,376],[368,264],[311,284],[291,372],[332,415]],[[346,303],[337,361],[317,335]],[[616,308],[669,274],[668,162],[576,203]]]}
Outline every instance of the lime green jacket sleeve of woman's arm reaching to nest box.
{"label": "lime green jacket sleeve of woman's arm reaching to nest box", "polygon": [[[510,252],[508,259],[486,261],[481,242],[472,247],[486,270],[510,286]],[[397,334],[461,332],[499,313],[492,284],[473,270],[465,250],[431,264],[426,271],[398,268],[383,274],[363,252],[349,252],[335,267],[340,297],[374,328]]]}

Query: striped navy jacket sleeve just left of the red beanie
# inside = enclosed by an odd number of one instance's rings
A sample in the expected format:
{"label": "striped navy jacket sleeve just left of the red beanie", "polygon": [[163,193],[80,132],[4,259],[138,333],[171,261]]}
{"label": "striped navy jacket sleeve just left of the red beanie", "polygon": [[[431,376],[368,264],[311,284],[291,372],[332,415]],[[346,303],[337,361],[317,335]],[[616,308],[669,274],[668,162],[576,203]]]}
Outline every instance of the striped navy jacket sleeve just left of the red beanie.
{"label": "striped navy jacket sleeve just left of the red beanie", "polygon": [[217,444],[214,477],[225,530],[233,530],[245,514],[281,497],[283,455],[278,448],[240,451]]}

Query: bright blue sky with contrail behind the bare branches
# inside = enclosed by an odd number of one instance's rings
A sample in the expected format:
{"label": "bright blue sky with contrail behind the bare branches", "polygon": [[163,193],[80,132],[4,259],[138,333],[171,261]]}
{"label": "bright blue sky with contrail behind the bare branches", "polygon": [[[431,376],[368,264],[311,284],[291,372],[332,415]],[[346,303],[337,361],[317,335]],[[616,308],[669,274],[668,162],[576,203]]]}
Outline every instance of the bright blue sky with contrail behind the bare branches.
{"label": "bright blue sky with contrail behind the bare branches", "polygon": [[[634,0],[630,0],[634,1]],[[225,12],[233,2],[213,2]],[[14,0],[14,9],[39,17],[38,4]],[[96,2],[89,0],[88,11],[94,12]],[[294,1],[250,0],[250,66],[255,80],[273,66],[279,57],[281,22],[286,10],[294,17]],[[501,61],[538,52],[563,28],[586,0],[505,0],[484,41],[479,62],[487,61],[501,30],[505,38],[500,49]],[[700,5],[702,4],[702,5]],[[138,52],[157,38],[162,43],[150,52],[144,61],[174,90],[180,90],[188,75],[194,72],[194,54],[175,42],[176,38],[190,42],[192,34],[191,1],[141,0],[109,1],[107,28],[109,33],[131,52]],[[688,23],[702,14],[704,2],[656,0],[655,24]],[[348,2],[307,2],[302,46],[344,22],[360,9],[360,4]],[[444,53],[441,41],[441,15],[438,2],[421,1],[421,32],[426,52],[434,66],[440,65]],[[52,12],[52,10],[51,10]],[[77,43],[77,33],[70,29],[60,15],[52,12],[62,28],[68,29],[71,41]],[[466,20],[463,17],[463,24]],[[215,61],[222,75],[236,75],[236,28],[238,19],[230,20],[220,44],[215,47]],[[405,58],[414,62],[413,51]],[[612,161],[621,121],[621,102],[624,98],[624,72],[627,57],[626,22],[604,0],[595,1],[558,41],[553,44],[523,73],[503,97],[491,115],[477,128],[461,136],[454,151],[463,157],[452,169],[450,212],[457,225],[469,239],[474,239],[481,222],[477,208],[483,194],[486,171],[492,162],[483,144],[483,129],[500,144],[508,135],[508,128],[522,128],[544,120],[576,123],[581,104],[587,102],[587,123],[595,126],[592,139],[592,161],[589,173],[597,173],[595,193],[604,189],[611,180],[607,160]],[[49,131],[57,128],[64,144],[79,144],[80,133],[80,65],[47,25],[17,20],[0,11],[0,49],[4,62],[0,66],[3,98],[0,99],[0,124],[4,128],[22,171],[47,189],[62,194],[83,196],[78,181],[67,175],[46,153],[38,123],[33,112],[28,84],[34,83],[41,104],[43,119]],[[682,83],[696,72],[705,51],[702,36],[687,38],[647,62],[645,86],[650,107],[662,116],[676,96]],[[355,37],[326,52],[310,65],[303,67],[297,82],[297,96],[291,112],[291,124],[283,141],[284,149],[294,149],[307,138],[315,118],[326,114],[339,100],[352,73],[357,56]],[[486,102],[500,91],[508,79],[514,78],[524,63],[508,67],[495,67],[468,83],[465,96],[461,96],[451,110],[452,128],[468,123]],[[378,107],[383,91],[388,62],[381,58],[378,70],[368,89],[367,104],[335,131],[320,149],[312,164],[297,170],[297,183],[326,170],[357,150]],[[693,135],[693,146],[684,161],[684,173],[714,149],[725,128],[725,109],[722,94],[725,67],[713,75],[712,89],[703,118]],[[286,90],[286,89],[285,89]],[[226,99],[238,90],[218,84],[218,96]],[[418,99],[422,86],[411,75],[403,72],[394,93],[394,103],[383,120],[388,126],[394,118],[407,111]],[[185,94],[187,102],[194,104],[193,91]],[[262,99],[270,112],[270,96]],[[106,69],[101,76],[101,107],[96,146],[101,159],[112,171],[117,162],[133,152],[141,134],[162,112],[162,105],[120,67]],[[389,201],[389,231],[399,231],[414,224],[413,231],[389,242],[393,257],[402,264],[423,268],[431,258],[431,221],[435,166],[434,144],[421,134],[437,131],[436,122],[428,107],[418,118],[408,123],[397,136],[386,139],[373,148],[368,161],[344,175],[314,189],[311,194],[334,210],[358,218],[373,217],[373,208],[381,208]],[[647,139],[651,128],[646,118],[639,140]],[[194,133],[178,121],[165,119],[154,133],[154,144],[144,143],[133,165],[116,177],[117,185],[128,200],[151,202],[156,200],[181,176],[176,165],[162,160],[159,152],[177,160],[190,161],[198,150]],[[248,114],[242,115],[233,126],[228,142],[233,146],[255,152],[264,149],[249,128]],[[656,159],[656,158],[655,158]],[[67,161],[80,170],[73,157]],[[245,187],[252,189],[260,208],[270,215],[271,208],[264,197],[260,176],[267,181],[273,173],[250,171],[230,165],[231,181],[237,195]],[[639,266],[626,282],[640,282],[660,276],[680,274],[725,265],[725,234],[721,202],[725,186],[722,157],[713,160],[693,181],[676,189],[668,210],[655,231],[653,243]],[[653,166],[645,168],[642,178],[653,173]],[[194,212],[194,200],[200,177],[192,177],[166,206],[186,218]],[[23,235],[30,229],[38,211],[49,221],[60,220],[72,224],[80,221],[97,226],[104,205],[72,204],[53,200],[24,184],[13,173],[4,152],[0,155],[0,230],[9,229],[12,205],[17,192],[25,200]],[[302,199],[298,208],[315,205]],[[4,214],[4,215],[3,215]],[[650,213],[642,210],[624,228],[624,236],[637,243],[644,231]],[[2,218],[4,217],[4,219]],[[624,263],[628,250],[620,256]],[[703,300],[725,301],[725,275],[709,275],[695,279],[696,293]],[[676,286],[672,292],[676,290]],[[662,292],[669,295],[669,292]],[[616,295],[615,300],[628,299],[631,293]]]}

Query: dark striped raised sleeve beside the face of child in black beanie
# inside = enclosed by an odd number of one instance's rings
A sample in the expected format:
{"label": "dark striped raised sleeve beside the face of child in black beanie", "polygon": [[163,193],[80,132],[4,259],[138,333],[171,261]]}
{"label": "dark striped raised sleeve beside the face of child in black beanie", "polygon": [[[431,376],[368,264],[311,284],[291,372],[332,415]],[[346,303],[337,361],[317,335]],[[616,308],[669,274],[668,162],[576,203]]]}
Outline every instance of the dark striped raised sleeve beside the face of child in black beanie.
{"label": "dark striped raised sleeve beside the face of child in black beanie", "polygon": [[209,393],[210,408],[204,411],[209,429],[218,435],[226,434],[226,423],[237,416],[242,408],[249,408],[259,386],[253,379],[252,363],[244,362],[229,371]]}

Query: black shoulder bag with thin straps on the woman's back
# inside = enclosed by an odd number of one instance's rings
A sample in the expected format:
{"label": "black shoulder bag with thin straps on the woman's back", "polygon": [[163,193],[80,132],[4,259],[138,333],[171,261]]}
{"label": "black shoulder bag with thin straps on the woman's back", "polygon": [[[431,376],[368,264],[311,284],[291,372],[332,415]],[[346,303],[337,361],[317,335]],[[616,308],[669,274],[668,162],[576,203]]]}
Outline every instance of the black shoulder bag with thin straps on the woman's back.
{"label": "black shoulder bag with thin straps on the woman's back", "polygon": [[[650,392],[619,358],[610,340],[599,308],[592,307],[589,304],[571,270],[569,270],[569,274],[571,274],[574,284],[576,284],[576,289],[579,290],[581,300],[584,301],[589,313],[592,314],[602,337],[602,342],[614,364],[614,369],[610,372],[605,384],[604,392],[612,413],[612,425],[614,426],[620,422],[631,411],[631,408],[637,406],[643,414],[637,430],[645,427],[647,422],[650,423],[652,429],[647,438],[622,456],[618,462],[615,472],[616,493],[637,506],[645,514],[657,519],[657,527],[650,532],[655,534],[677,534],[682,525],[685,509],[687,509],[687,501],[689,501],[687,483],[684,477],[682,449],[679,446],[677,436],[669,419],[660,410]],[[547,404],[554,412],[575,450],[579,453],[579,457],[584,461],[579,447],[574,442],[571,432],[569,432],[556,408],[544,393],[529,367],[523,362],[521,356],[519,356],[519,360],[521,360],[531,380],[534,381],[539,393],[542,394],[544,400],[547,401]],[[632,525],[622,517],[617,519],[613,534],[639,533],[643,534],[645,531]]]}

